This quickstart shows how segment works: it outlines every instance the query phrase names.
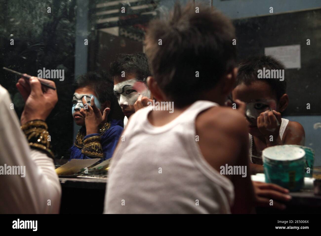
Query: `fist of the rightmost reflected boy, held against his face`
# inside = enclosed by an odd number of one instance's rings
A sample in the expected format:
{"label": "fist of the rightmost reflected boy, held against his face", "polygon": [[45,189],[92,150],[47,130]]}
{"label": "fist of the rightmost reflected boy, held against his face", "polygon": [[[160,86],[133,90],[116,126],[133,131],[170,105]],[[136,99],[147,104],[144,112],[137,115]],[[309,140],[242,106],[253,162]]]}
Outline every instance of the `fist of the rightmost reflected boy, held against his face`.
{"label": "fist of the rightmost reflected boy, held against his face", "polygon": [[279,136],[281,124],[281,113],[273,111],[265,111],[260,114],[257,118],[257,128],[265,138],[270,138],[270,135],[273,137]]}

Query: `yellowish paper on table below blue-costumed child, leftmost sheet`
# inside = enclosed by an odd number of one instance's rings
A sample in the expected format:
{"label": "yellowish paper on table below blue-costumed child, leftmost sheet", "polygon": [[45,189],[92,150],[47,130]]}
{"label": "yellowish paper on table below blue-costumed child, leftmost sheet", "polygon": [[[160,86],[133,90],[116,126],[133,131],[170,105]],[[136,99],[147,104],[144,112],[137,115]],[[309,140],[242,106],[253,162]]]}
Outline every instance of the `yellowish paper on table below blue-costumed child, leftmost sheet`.
{"label": "yellowish paper on table below blue-costumed child, leftmost sheet", "polygon": [[58,167],[56,173],[58,175],[72,175],[78,173],[82,169],[98,162],[100,158],[95,159],[71,159],[70,162]]}

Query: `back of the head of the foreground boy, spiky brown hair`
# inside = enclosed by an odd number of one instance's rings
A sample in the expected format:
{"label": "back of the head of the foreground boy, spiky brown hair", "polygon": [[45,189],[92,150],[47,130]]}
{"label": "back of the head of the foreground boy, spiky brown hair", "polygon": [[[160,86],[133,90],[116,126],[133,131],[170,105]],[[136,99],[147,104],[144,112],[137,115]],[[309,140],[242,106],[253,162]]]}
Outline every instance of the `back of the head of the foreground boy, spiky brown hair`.
{"label": "back of the head of the foreground boy, spiky brown hair", "polygon": [[183,107],[200,99],[235,67],[235,30],[210,7],[175,5],[169,19],[154,20],[146,33],[146,54],[160,89]]}

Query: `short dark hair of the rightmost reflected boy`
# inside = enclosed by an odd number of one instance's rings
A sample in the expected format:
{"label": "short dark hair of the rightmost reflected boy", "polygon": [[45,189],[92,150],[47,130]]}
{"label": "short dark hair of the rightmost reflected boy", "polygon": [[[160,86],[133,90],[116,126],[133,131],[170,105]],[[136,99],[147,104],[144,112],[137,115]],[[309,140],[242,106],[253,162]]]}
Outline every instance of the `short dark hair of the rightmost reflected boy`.
{"label": "short dark hair of the rightmost reflected boy", "polygon": [[286,80],[280,81],[279,78],[258,78],[258,70],[284,70],[285,67],[279,60],[272,56],[253,56],[249,57],[239,63],[238,76],[235,87],[244,83],[250,85],[255,81],[263,81],[268,83],[272,91],[275,93],[277,101],[286,93]]}

